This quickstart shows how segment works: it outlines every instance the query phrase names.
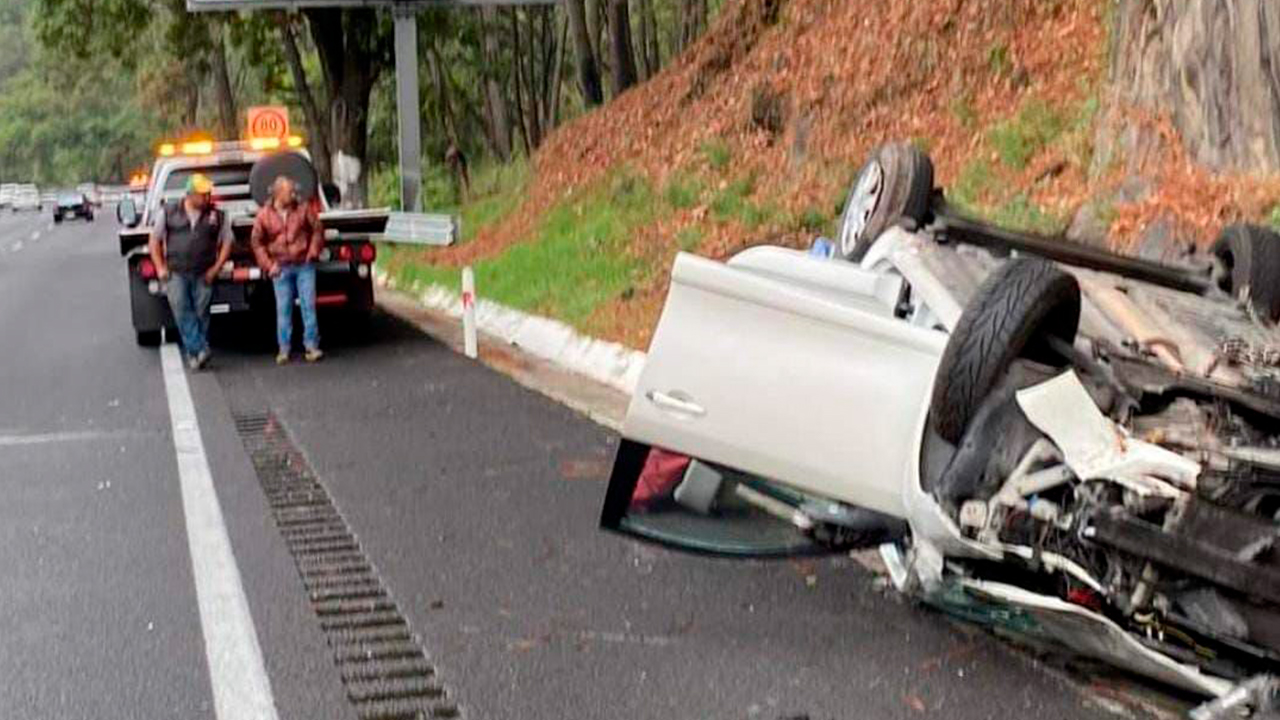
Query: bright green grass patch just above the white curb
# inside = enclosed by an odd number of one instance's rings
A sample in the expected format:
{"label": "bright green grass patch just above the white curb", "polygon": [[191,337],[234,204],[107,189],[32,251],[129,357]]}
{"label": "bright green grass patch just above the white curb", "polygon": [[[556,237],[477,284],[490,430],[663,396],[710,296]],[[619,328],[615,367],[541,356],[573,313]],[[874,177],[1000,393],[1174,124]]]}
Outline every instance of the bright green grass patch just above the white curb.
{"label": "bright green grass patch just above the white curb", "polygon": [[[631,287],[639,268],[628,241],[660,205],[648,182],[614,173],[554,205],[525,242],[476,263],[476,293],[589,331],[591,314]],[[396,256],[390,266],[402,287],[438,283],[457,291],[461,282],[457,268]]]}

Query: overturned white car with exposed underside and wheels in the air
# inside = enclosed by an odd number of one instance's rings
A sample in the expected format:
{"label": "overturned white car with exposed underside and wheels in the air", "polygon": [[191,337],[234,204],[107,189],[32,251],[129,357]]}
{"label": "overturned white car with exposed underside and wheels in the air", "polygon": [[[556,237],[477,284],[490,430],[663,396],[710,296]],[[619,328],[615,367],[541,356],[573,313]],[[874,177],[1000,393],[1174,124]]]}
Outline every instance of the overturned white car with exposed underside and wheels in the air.
{"label": "overturned white car with exposed underside and wheels in the air", "polygon": [[1202,693],[1202,717],[1274,710],[1280,237],[1231,227],[1178,268],[1012,233],[890,145],[836,245],[677,258],[602,524],[878,544],[904,592]]}

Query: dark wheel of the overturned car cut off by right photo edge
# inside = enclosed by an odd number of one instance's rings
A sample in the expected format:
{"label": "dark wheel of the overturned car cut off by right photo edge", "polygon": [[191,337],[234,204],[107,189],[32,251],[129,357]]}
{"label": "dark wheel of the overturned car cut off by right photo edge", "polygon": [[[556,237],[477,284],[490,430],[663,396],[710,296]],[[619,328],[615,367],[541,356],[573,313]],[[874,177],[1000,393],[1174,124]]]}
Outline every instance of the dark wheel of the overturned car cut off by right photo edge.
{"label": "dark wheel of the overturned car cut off by right photo edge", "polygon": [[1280,320],[1280,234],[1260,225],[1228,225],[1210,252],[1226,270],[1219,287],[1248,300],[1267,322]]}

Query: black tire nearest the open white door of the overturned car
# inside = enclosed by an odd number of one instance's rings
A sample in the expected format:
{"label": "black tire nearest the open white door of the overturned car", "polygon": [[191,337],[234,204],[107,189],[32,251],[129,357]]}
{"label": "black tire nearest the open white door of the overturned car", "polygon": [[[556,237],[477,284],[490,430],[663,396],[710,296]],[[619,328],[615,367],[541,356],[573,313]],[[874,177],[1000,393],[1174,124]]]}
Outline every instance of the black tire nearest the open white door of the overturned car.
{"label": "black tire nearest the open white door of the overturned car", "polygon": [[1014,360],[1056,364],[1043,340],[1074,342],[1079,324],[1080,286],[1074,277],[1044,260],[1005,263],[974,293],[942,351],[929,405],[933,429],[959,443]]}

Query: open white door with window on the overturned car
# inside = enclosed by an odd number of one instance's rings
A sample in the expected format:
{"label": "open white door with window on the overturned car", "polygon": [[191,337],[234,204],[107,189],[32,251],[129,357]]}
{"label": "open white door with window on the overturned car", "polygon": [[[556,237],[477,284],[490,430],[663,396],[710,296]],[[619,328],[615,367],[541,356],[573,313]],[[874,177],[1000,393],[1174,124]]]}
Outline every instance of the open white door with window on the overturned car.
{"label": "open white door with window on the overturned car", "polygon": [[[727,264],[677,256],[604,524],[714,550],[690,533],[712,528],[716,503],[705,496],[724,500],[724,487],[763,511],[756,520],[785,519],[787,506],[814,497],[902,518],[902,479],[946,334],[899,318],[901,295],[892,273],[792,250],[751,249]],[[641,478],[654,475],[650,448],[696,459],[686,470],[694,479]],[[716,491],[705,468],[728,482]],[[705,492],[686,492],[692,502],[677,495],[658,506],[701,518],[676,523],[653,510],[654,495],[694,480]],[[769,534],[763,521],[744,533]]]}

